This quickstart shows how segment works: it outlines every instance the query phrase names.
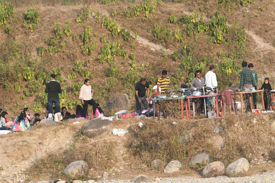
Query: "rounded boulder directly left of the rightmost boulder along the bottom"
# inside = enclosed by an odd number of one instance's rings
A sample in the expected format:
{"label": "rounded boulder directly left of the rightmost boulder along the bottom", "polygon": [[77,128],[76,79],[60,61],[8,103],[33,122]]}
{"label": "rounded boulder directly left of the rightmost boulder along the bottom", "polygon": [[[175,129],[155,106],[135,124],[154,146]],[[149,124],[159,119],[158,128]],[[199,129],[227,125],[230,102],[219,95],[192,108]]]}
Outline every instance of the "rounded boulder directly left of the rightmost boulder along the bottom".
{"label": "rounded boulder directly left of the rightmost boulder along the bottom", "polygon": [[224,173],[224,164],[220,161],[215,161],[207,164],[202,172],[204,177],[215,177]]}

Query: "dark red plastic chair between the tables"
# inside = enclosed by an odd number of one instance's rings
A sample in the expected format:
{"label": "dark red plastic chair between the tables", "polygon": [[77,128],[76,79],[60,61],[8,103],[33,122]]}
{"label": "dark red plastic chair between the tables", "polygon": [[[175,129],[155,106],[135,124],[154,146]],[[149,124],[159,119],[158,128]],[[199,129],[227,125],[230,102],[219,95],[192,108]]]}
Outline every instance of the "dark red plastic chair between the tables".
{"label": "dark red plastic chair between the tables", "polygon": [[[225,101],[222,100],[222,94],[224,93]],[[234,93],[234,104],[232,102],[231,94]],[[225,105],[233,105],[233,110],[235,115],[237,115],[237,105],[236,105],[236,93],[232,89],[224,89],[221,91],[221,102],[222,102],[222,114],[225,116]],[[231,109],[230,109],[231,113]]]}

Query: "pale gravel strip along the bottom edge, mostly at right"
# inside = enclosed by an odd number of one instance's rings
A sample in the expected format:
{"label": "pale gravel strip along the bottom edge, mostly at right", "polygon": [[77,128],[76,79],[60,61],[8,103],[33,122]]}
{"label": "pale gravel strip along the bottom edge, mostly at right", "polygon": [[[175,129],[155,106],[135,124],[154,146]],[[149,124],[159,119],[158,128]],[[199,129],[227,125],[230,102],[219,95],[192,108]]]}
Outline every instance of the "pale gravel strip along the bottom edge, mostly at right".
{"label": "pale gravel strip along the bottom edge, mostly at right", "polygon": [[[103,181],[104,182],[104,181]],[[128,183],[130,180],[109,180],[109,183]],[[274,183],[275,171],[267,172],[261,175],[253,175],[251,177],[222,177],[222,178],[192,178],[192,177],[179,177],[179,178],[154,178],[152,182],[156,183]]]}

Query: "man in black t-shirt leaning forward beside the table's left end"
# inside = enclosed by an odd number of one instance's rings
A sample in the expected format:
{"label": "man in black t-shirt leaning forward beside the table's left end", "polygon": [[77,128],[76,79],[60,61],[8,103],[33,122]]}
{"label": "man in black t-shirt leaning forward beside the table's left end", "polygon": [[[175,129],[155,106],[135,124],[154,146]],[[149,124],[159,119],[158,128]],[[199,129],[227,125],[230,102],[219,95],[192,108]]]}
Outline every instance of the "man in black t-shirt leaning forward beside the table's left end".
{"label": "man in black t-shirt leaning forward beside the table's left end", "polygon": [[[147,95],[146,95],[147,90]],[[145,78],[141,78],[140,81],[136,83],[135,86],[135,99],[136,99],[136,107],[138,112],[141,112],[141,104],[145,109],[149,109],[149,83]]]}

